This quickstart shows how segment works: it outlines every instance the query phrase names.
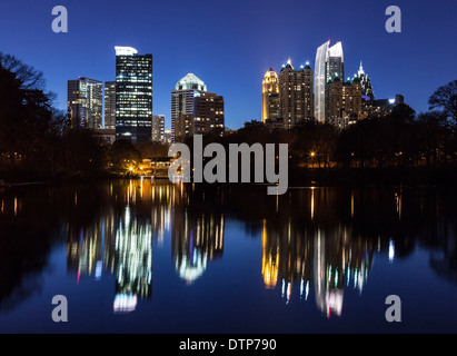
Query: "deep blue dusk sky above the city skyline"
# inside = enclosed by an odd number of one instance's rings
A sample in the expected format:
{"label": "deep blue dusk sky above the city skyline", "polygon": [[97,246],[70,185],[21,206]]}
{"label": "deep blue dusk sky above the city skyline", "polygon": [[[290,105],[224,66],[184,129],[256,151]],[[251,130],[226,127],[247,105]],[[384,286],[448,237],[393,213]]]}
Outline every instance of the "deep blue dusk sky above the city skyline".
{"label": "deep blue dusk sky above the city skyline", "polygon": [[[388,33],[388,6],[401,9],[401,33]],[[69,32],[54,33],[54,6],[64,6]],[[360,60],[376,98],[403,93],[416,111],[434,90],[457,79],[455,0],[1,0],[0,51],[42,71],[47,89],[67,108],[67,80],[115,80],[115,46],[153,55],[153,113],[170,127],[176,82],[192,72],[226,101],[226,126],[260,120],[261,80],[309,61],[341,41],[346,77]]]}

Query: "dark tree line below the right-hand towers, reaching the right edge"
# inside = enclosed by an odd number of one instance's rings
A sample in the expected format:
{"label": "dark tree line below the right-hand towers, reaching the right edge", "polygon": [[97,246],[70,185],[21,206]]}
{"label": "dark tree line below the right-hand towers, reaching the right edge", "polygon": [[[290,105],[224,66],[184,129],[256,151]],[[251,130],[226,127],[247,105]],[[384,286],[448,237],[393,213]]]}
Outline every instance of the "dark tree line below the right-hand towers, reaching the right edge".
{"label": "dark tree line below the right-hand towers, reaching the right edge", "polygon": [[[366,118],[339,129],[312,120],[289,130],[269,130],[249,121],[237,131],[212,131],[205,145],[288,144],[292,167],[448,167],[457,162],[457,80],[438,88],[429,110],[416,113],[399,103],[381,118]],[[191,139],[187,139],[191,145]]]}

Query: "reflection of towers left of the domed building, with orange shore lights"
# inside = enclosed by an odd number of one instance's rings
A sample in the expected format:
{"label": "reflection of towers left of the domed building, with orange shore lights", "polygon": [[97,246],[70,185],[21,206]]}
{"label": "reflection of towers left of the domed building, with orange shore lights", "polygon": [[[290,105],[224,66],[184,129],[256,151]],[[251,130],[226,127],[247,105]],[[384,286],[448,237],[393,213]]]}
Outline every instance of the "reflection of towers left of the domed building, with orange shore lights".
{"label": "reflection of towers left of the domed building, with orange shore lights", "polygon": [[115,275],[113,312],[129,313],[139,299],[152,296],[152,239],[163,244],[171,208],[181,197],[173,186],[146,179],[115,185],[101,192],[102,211],[90,210],[91,201],[81,198],[74,205],[77,220],[67,225],[67,265],[78,283],[87,276],[100,280],[103,274]]}

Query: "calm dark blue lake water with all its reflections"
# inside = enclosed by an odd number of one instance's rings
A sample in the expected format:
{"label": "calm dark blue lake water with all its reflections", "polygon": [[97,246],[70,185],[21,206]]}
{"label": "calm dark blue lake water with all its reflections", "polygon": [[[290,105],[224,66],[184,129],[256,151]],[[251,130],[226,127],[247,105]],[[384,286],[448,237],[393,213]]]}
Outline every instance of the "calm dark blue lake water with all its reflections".
{"label": "calm dark blue lake water with all its reflections", "polygon": [[[457,332],[456,192],[0,189],[0,332]],[[64,295],[69,322],[53,323]],[[388,295],[401,323],[387,323]]]}

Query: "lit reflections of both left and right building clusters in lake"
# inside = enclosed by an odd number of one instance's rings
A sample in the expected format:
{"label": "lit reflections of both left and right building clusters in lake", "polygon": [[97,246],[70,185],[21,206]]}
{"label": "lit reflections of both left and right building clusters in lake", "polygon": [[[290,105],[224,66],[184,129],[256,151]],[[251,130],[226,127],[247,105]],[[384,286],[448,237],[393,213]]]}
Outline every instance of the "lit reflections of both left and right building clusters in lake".
{"label": "lit reflections of both left and right building clusters in lake", "polygon": [[[405,192],[314,188],[270,197],[252,188],[149,179],[102,187],[100,196],[70,195],[78,201],[71,201],[73,218],[67,218],[68,268],[78,281],[115,276],[117,313],[131,312],[140,299],[151,298],[153,240],[161,246],[171,237],[176,275],[192,285],[211,260],[222,256],[226,216],[230,216],[247,229],[255,226],[251,235],[261,236],[261,278],[267,289],[278,290],[286,304],[296,297],[315,298],[322,315],[338,316],[348,289],[362,293],[375,254],[386,254],[390,263],[410,254],[417,217],[430,216],[421,205],[409,202],[414,200]],[[435,209],[436,202],[425,206]],[[411,208],[420,211],[411,214]],[[448,240],[441,245],[448,246]],[[434,269],[450,275],[446,269],[454,264],[453,246],[446,256],[430,261]]]}

